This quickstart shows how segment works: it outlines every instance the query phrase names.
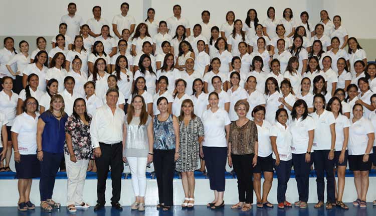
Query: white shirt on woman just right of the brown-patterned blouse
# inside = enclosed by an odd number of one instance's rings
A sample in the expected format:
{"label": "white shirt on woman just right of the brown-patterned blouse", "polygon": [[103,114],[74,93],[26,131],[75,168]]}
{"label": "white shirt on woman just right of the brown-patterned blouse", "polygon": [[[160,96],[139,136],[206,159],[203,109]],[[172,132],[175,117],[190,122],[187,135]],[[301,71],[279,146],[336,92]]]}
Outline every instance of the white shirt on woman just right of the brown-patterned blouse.
{"label": "white shirt on woman just right of the brown-patterned blouse", "polygon": [[259,143],[258,156],[268,157],[272,154],[272,144],[270,142],[270,129],[272,125],[264,120],[262,126],[257,125],[257,139]]}

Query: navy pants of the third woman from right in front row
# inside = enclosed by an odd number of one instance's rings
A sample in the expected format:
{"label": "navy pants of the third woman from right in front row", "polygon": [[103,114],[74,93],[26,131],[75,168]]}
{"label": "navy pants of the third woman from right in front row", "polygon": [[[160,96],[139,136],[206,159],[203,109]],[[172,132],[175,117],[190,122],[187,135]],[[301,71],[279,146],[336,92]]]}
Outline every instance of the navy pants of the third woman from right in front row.
{"label": "navy pants of the third woman from right in front row", "polygon": [[315,150],[313,155],[313,164],[315,165],[316,171],[316,185],[317,185],[317,198],[318,201],[324,201],[324,172],[326,175],[326,194],[327,201],[334,203],[334,160],[329,160],[330,150]]}

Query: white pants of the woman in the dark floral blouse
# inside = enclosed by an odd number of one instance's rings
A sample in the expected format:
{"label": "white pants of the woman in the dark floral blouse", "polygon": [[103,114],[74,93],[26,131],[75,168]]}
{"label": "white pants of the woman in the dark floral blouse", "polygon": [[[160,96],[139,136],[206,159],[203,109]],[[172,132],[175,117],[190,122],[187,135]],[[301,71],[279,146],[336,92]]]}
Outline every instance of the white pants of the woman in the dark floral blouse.
{"label": "white pants of the woman in the dark floral blouse", "polygon": [[82,194],[84,192],[86,170],[89,165],[89,160],[77,160],[77,162],[74,163],[67,154],[64,154],[64,158],[68,177],[67,206],[79,205],[83,202]]}

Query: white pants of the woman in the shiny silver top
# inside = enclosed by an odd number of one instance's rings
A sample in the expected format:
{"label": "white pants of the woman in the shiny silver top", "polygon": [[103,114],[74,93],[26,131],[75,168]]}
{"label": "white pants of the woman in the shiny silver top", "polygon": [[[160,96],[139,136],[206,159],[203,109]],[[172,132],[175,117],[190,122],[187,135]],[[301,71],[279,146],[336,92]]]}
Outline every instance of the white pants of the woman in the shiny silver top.
{"label": "white pants of the woman in the shiny silver top", "polygon": [[145,196],[147,158],[127,157],[135,196]]}

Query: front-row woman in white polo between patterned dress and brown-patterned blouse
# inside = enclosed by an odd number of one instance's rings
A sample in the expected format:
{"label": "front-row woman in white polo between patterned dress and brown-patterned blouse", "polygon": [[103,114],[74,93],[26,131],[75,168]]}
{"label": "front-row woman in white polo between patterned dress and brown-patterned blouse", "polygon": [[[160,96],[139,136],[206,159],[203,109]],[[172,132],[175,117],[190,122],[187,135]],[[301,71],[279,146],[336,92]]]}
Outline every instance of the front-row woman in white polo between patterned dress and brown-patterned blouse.
{"label": "front-row woman in white polo between patterned dress and brown-patterned blouse", "polygon": [[225,167],[231,124],[228,113],[218,106],[218,102],[218,93],[210,93],[210,109],[206,110],[202,116],[205,142],[200,144],[200,155],[205,157],[210,189],[214,190],[214,200],[208,203],[208,207],[212,209],[225,206],[225,201],[223,200]]}

